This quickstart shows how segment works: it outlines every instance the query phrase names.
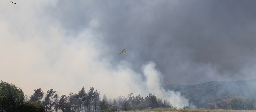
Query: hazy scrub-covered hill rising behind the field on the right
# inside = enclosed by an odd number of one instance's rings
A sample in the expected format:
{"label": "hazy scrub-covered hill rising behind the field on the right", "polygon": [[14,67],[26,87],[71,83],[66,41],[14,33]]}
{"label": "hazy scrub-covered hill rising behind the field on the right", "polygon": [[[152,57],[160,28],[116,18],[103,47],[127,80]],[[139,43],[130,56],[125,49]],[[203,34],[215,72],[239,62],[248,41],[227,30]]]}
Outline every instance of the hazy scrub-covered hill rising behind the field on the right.
{"label": "hazy scrub-covered hill rising behind the field on the right", "polygon": [[209,104],[234,98],[256,98],[256,79],[233,82],[211,81],[196,85],[166,85],[166,90],[180,91],[197,108],[208,108]]}

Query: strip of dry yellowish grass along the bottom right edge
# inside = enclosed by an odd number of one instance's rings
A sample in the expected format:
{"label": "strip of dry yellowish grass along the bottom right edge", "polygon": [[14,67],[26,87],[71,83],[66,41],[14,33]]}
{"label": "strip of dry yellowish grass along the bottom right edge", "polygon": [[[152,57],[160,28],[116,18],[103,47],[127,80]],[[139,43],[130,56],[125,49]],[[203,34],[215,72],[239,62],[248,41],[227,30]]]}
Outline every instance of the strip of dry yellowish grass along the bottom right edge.
{"label": "strip of dry yellowish grass along the bottom right edge", "polygon": [[256,112],[256,110],[222,110],[222,109],[205,109],[205,108],[194,108],[194,109],[176,109],[176,108],[154,108],[145,110],[130,110],[120,112]]}

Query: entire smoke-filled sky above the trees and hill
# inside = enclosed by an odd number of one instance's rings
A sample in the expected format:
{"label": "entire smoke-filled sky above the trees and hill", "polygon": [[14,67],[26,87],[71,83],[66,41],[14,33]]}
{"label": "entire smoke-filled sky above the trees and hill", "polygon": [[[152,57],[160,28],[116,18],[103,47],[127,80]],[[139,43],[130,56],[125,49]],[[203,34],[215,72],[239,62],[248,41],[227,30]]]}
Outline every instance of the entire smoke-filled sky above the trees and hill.
{"label": "entire smoke-filled sky above the trees and hill", "polygon": [[256,78],[254,0],[12,2],[0,3],[0,80],[28,96],[93,86],[182,100],[159,86]]}

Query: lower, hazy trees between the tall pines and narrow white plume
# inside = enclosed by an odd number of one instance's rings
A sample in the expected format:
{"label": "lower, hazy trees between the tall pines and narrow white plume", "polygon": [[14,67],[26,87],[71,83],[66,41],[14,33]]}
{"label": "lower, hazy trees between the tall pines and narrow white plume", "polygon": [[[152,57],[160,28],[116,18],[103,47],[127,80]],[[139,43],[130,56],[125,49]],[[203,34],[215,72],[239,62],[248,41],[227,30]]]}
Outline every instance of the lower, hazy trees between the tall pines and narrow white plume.
{"label": "lower, hazy trees between the tall pines and narrow white plume", "polygon": [[172,107],[170,101],[162,100],[156,97],[155,93],[149,93],[145,98],[139,95],[132,95],[129,93],[128,96],[119,96],[113,101],[107,100],[106,95],[103,96],[100,101],[99,107],[101,110],[119,111],[119,110],[135,110],[145,108],[169,108]]}

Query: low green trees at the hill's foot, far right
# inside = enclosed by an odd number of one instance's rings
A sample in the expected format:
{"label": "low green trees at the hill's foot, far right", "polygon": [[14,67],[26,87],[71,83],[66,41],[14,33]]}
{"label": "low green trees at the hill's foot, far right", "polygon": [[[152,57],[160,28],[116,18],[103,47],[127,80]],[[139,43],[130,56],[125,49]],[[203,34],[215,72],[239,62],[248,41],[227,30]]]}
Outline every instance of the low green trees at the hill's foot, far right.
{"label": "low green trees at the hill's foot, far right", "polygon": [[229,103],[220,101],[210,104],[209,109],[252,110],[256,109],[256,99],[233,99]]}

